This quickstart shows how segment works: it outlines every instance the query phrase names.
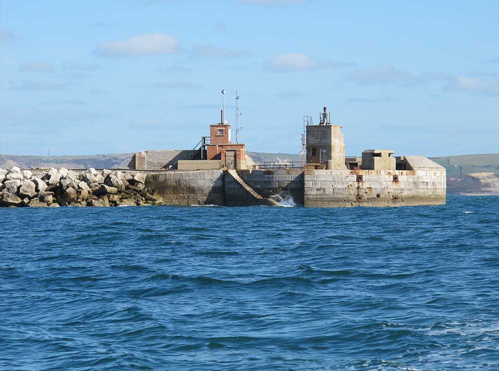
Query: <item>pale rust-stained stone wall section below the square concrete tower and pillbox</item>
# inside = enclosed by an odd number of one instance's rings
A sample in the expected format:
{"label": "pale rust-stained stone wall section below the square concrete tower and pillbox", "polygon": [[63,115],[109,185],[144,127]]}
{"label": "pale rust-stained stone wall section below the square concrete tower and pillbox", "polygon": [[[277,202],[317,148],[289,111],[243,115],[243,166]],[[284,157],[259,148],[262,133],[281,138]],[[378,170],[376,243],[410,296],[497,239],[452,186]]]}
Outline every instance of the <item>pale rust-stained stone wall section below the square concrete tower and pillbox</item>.
{"label": "pale rust-stained stone wall section below the square concrete tower and pillbox", "polygon": [[402,206],[446,202],[445,170],[306,170],[304,206]]}

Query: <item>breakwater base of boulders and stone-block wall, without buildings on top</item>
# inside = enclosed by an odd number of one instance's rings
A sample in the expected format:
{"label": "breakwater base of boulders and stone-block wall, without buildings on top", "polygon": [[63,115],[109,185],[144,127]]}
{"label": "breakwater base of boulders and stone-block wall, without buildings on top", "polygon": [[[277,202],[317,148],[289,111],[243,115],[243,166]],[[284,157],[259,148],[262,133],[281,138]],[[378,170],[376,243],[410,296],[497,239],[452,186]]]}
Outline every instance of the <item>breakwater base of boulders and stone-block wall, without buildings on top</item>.
{"label": "breakwater base of boulders and stone-block wall, without buildings on top", "polygon": [[[235,179],[239,178],[239,179]],[[291,195],[306,207],[446,202],[445,170],[0,170],[0,206],[225,205]]]}

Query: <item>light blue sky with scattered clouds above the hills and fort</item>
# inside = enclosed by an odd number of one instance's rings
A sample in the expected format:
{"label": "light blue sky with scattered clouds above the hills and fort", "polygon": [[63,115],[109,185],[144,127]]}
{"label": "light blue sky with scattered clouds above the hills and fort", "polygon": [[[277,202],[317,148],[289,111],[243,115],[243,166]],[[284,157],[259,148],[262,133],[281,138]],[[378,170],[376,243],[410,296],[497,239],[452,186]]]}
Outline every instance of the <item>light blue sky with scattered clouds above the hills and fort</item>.
{"label": "light blue sky with scattered clouds above the hills and fort", "polygon": [[192,149],[221,90],[248,151],[499,152],[499,2],[0,0],[0,153]]}

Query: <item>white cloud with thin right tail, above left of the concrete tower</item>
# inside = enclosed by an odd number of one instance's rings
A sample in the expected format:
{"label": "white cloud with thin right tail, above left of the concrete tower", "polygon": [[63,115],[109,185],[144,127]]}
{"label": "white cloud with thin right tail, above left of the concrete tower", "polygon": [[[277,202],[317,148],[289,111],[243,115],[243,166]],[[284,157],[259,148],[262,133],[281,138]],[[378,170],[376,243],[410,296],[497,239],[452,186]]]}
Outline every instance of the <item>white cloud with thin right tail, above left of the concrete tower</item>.
{"label": "white cloud with thin right tail, above left of the concrete tower", "polygon": [[324,68],[349,68],[354,63],[344,63],[332,60],[318,60],[303,53],[279,54],[264,63],[264,68],[271,72],[311,71]]}

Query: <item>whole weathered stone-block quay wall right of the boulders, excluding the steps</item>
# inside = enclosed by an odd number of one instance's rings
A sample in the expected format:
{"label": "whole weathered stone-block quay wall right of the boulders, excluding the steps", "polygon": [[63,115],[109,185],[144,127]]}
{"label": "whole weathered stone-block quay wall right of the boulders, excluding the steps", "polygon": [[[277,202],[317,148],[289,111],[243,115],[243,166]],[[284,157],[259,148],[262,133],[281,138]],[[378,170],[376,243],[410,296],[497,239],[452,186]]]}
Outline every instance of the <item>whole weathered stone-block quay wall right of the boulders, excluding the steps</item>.
{"label": "whole weathered stone-block quay wall right of the boulders, excluding the steps", "polygon": [[[240,178],[263,197],[290,194],[306,207],[437,205],[446,202],[445,169],[254,170]],[[165,204],[261,205],[227,171],[149,174],[146,186]]]}

